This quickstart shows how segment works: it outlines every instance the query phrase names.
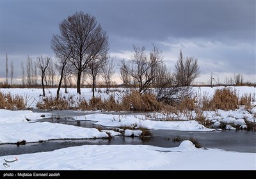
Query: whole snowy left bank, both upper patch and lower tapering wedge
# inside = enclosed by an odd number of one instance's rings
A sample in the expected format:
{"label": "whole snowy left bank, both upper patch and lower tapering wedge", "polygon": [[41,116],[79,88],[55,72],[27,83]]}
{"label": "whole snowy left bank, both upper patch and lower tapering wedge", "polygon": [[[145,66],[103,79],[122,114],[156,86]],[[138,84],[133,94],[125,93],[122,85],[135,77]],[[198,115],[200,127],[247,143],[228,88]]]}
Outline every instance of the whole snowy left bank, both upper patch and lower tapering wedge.
{"label": "whole snowy left bank, both upper patch and lower tapering wedge", "polygon": [[[106,132],[96,128],[83,128],[60,123],[35,122],[42,118],[32,111],[9,111],[0,109],[1,139],[0,143],[38,142],[49,139],[92,139],[108,137]],[[47,114],[45,114],[47,115]],[[30,121],[28,121],[30,120]]]}

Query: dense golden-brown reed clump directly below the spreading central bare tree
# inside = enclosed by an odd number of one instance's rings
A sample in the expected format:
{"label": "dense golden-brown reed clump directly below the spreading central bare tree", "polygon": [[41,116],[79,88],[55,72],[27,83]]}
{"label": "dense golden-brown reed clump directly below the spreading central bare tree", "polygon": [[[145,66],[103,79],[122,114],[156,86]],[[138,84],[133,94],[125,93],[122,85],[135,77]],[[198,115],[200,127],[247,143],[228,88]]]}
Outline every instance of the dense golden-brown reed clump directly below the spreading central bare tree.
{"label": "dense golden-brown reed clump directly below the spreading central bare tree", "polygon": [[124,95],[122,100],[122,108],[127,111],[158,111],[162,107],[157,102],[156,96],[152,93],[140,94],[138,91]]}

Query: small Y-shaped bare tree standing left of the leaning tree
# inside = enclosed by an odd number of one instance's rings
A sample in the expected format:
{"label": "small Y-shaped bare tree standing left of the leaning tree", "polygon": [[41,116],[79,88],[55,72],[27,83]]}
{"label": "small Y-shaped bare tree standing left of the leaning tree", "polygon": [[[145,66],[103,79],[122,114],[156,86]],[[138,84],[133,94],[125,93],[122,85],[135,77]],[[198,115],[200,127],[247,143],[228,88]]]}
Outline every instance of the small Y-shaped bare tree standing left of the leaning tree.
{"label": "small Y-shaped bare tree standing left of the leaning tree", "polygon": [[38,61],[36,62],[36,65],[40,69],[40,76],[41,76],[41,82],[42,82],[43,96],[44,97],[45,97],[45,90],[44,90],[45,70],[47,69],[50,60],[51,60],[51,58],[41,56],[41,57],[38,57]]}

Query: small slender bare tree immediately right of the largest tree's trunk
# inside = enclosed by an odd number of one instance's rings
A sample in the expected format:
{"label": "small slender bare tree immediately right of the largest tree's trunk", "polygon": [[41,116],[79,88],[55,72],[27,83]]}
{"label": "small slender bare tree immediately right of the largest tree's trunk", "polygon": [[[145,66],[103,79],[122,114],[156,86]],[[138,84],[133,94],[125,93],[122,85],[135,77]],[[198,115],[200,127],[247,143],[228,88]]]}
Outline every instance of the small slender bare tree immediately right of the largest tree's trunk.
{"label": "small slender bare tree immediately right of the largest tree's trunk", "polygon": [[94,91],[96,90],[96,82],[102,70],[102,65],[106,61],[106,56],[100,56],[99,58],[93,59],[88,63],[87,74],[92,79],[92,97],[95,97]]}

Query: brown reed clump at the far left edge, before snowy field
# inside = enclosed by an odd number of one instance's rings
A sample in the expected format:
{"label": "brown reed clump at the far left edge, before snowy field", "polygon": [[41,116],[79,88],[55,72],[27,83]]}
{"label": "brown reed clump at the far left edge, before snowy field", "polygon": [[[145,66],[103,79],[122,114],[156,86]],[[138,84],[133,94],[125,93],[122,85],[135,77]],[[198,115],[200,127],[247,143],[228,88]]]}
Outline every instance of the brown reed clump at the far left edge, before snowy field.
{"label": "brown reed clump at the far left edge, before snowy field", "polygon": [[0,109],[25,109],[26,102],[20,95],[0,92]]}

